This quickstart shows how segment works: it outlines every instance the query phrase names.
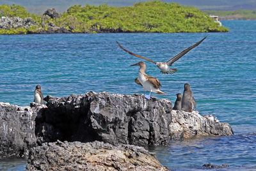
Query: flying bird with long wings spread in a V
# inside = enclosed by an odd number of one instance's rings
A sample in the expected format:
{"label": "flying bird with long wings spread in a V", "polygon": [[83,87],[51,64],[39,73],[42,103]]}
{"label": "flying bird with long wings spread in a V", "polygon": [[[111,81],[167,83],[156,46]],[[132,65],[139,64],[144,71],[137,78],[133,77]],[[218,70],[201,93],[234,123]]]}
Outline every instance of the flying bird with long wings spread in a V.
{"label": "flying bird with long wings spread in a V", "polygon": [[180,57],[184,56],[186,53],[189,52],[189,50],[191,50],[192,48],[195,48],[196,46],[198,46],[200,43],[202,43],[202,41],[205,40],[205,38],[207,38],[207,36],[205,36],[202,40],[198,41],[197,43],[195,43],[195,45],[192,45],[189,48],[186,48],[185,50],[182,50],[182,52],[180,52],[179,54],[177,54],[176,56],[172,57],[172,59],[166,61],[166,62],[154,62],[151,59],[148,59],[146,57],[142,57],[142,56],[138,56],[136,54],[133,54],[132,52],[130,52],[129,50],[126,50],[124,47],[122,47],[122,45],[120,45],[120,43],[118,43],[118,41],[116,41],[116,43],[118,44],[118,46],[120,48],[122,48],[125,52],[128,52],[129,54],[131,54],[132,56],[136,56],[136,57],[140,57],[141,59],[145,59],[147,61],[150,61],[151,63],[156,64],[156,66],[161,70],[162,73],[170,73],[171,75],[173,73],[175,73],[175,71],[177,71],[177,69],[175,68],[170,68],[169,66],[172,66],[172,64],[177,61],[178,59],[180,59]]}

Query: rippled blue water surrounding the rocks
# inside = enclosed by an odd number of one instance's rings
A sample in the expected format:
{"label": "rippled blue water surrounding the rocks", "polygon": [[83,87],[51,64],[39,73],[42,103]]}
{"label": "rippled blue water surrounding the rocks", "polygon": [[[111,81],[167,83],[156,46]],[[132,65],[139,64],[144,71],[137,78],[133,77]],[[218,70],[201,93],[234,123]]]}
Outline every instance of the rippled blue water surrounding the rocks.
{"label": "rippled blue water surrounding the rocks", "polygon": [[[227,170],[256,170],[256,21],[222,21],[228,33],[174,34],[47,34],[0,36],[0,101],[29,105],[37,84],[44,96],[69,96],[87,91],[143,93],[134,83],[142,59],[116,44],[154,61],[167,61],[207,36],[198,47],[173,64],[178,71],[163,75],[147,64],[148,75],[159,78],[173,103],[175,94],[191,85],[200,114],[230,123],[232,137],[207,137],[153,147],[172,170],[199,170],[204,163],[228,164]],[[5,163],[4,163],[5,162]],[[13,168],[24,170],[24,161]],[[22,163],[23,162],[23,163]]]}

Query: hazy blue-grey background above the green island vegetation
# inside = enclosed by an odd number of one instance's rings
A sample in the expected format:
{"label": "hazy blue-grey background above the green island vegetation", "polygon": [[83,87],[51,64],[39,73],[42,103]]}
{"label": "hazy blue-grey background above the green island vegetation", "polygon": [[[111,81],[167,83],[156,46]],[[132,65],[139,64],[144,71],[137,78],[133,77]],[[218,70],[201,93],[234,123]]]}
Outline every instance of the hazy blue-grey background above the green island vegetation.
{"label": "hazy blue-grey background above the green island vegetation", "polygon": [[[182,5],[195,6],[200,10],[254,10],[256,0],[162,0],[166,3],[179,3]],[[134,3],[145,2],[145,0],[0,0],[0,4],[25,6],[31,13],[44,13],[47,8],[55,8],[56,11],[67,11],[68,7],[81,4],[99,6],[108,4],[109,6],[132,6]]]}

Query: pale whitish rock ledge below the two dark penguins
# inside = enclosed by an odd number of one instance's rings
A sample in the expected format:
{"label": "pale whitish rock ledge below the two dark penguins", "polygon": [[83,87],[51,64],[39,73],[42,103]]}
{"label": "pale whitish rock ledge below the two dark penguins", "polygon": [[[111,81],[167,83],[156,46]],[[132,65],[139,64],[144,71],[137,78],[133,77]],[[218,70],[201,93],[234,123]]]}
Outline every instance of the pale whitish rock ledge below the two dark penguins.
{"label": "pale whitish rock ledge below the two dark penguins", "polygon": [[173,140],[195,137],[196,135],[228,136],[234,132],[228,123],[220,121],[212,115],[202,116],[197,111],[185,112],[172,110],[170,137]]}

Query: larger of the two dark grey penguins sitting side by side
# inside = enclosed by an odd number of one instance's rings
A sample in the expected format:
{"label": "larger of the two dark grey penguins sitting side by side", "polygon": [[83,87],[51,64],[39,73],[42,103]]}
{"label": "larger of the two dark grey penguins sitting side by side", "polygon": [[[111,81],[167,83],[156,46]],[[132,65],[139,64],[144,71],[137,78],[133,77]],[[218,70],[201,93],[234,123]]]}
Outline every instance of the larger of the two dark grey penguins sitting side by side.
{"label": "larger of the two dark grey penguins sitting side by side", "polygon": [[181,101],[181,110],[186,112],[192,112],[193,107],[196,108],[196,100],[191,91],[190,85],[188,83],[184,84],[184,91]]}

